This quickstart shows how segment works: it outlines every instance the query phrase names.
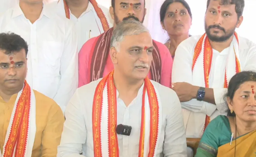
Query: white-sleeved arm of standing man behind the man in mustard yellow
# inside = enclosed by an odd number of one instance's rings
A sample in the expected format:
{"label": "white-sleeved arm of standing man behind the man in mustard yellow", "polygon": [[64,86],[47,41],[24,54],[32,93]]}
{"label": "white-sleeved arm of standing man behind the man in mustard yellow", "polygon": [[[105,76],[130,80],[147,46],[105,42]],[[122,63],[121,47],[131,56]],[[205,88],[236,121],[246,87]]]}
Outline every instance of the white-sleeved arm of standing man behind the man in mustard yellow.
{"label": "white-sleeved arm of standing man behind the man in mustard yellow", "polygon": [[61,57],[60,86],[54,100],[65,111],[66,105],[78,87],[77,34],[73,24],[66,23],[64,51]]}

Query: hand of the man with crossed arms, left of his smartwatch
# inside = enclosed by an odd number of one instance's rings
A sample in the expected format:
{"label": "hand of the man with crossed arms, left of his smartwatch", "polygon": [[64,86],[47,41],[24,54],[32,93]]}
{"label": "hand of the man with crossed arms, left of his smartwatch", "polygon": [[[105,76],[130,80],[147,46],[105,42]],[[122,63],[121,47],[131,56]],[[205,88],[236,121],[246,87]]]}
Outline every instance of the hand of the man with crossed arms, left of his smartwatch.
{"label": "hand of the man with crossed arms, left of his smartwatch", "polygon": [[172,83],[172,85],[172,89],[178,95],[180,102],[186,102],[196,98],[197,90],[199,89],[198,86],[193,86],[186,82]]}

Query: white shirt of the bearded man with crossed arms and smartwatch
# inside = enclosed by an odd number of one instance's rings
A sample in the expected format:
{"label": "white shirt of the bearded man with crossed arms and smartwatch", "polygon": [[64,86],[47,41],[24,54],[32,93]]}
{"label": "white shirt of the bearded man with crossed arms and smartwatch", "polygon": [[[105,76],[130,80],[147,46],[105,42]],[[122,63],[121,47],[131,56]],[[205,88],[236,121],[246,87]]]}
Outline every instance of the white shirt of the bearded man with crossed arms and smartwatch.
{"label": "white shirt of the bearded man with crossed arms and smartwatch", "polygon": [[[192,60],[195,46],[200,37],[200,35],[191,36],[177,47],[172,69],[173,83],[187,82],[197,85],[195,80],[193,80],[195,76],[192,76]],[[246,38],[240,36],[238,38],[241,70],[256,71],[256,45]],[[228,53],[231,52],[230,49],[233,49],[233,47],[228,47],[221,52],[213,49],[209,87],[213,88],[216,106],[208,102],[197,101],[196,99],[181,103],[187,137],[201,137],[206,115],[210,116],[212,120],[219,114],[226,114],[228,106],[225,103],[224,95],[227,92],[227,88],[223,88],[223,86],[225,67]],[[201,71],[204,73],[203,68]]]}

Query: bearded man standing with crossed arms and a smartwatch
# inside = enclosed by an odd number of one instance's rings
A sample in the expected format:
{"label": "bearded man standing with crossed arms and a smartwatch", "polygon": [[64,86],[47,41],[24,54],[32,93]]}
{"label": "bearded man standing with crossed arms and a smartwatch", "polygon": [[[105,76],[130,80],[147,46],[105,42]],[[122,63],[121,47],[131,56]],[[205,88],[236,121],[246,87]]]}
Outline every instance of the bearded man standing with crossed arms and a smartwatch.
{"label": "bearded man standing with crossed arms and a smartwatch", "polygon": [[244,1],[221,5],[210,0],[206,34],[188,38],[176,50],[173,90],[182,102],[187,137],[201,137],[210,120],[227,114],[224,95],[232,76],[256,70],[256,45],[234,32],[242,22],[235,6],[243,8]]}

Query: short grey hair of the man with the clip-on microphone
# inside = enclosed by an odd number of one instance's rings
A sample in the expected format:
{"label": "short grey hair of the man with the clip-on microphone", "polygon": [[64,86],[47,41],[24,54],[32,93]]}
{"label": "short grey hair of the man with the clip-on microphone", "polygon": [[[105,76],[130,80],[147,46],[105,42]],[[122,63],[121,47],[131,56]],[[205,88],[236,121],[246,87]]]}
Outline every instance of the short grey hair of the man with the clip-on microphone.
{"label": "short grey hair of the man with the clip-on microphone", "polygon": [[139,35],[149,30],[139,21],[129,19],[119,23],[113,31],[110,48],[114,47],[119,51],[120,42],[124,40],[126,35]]}

